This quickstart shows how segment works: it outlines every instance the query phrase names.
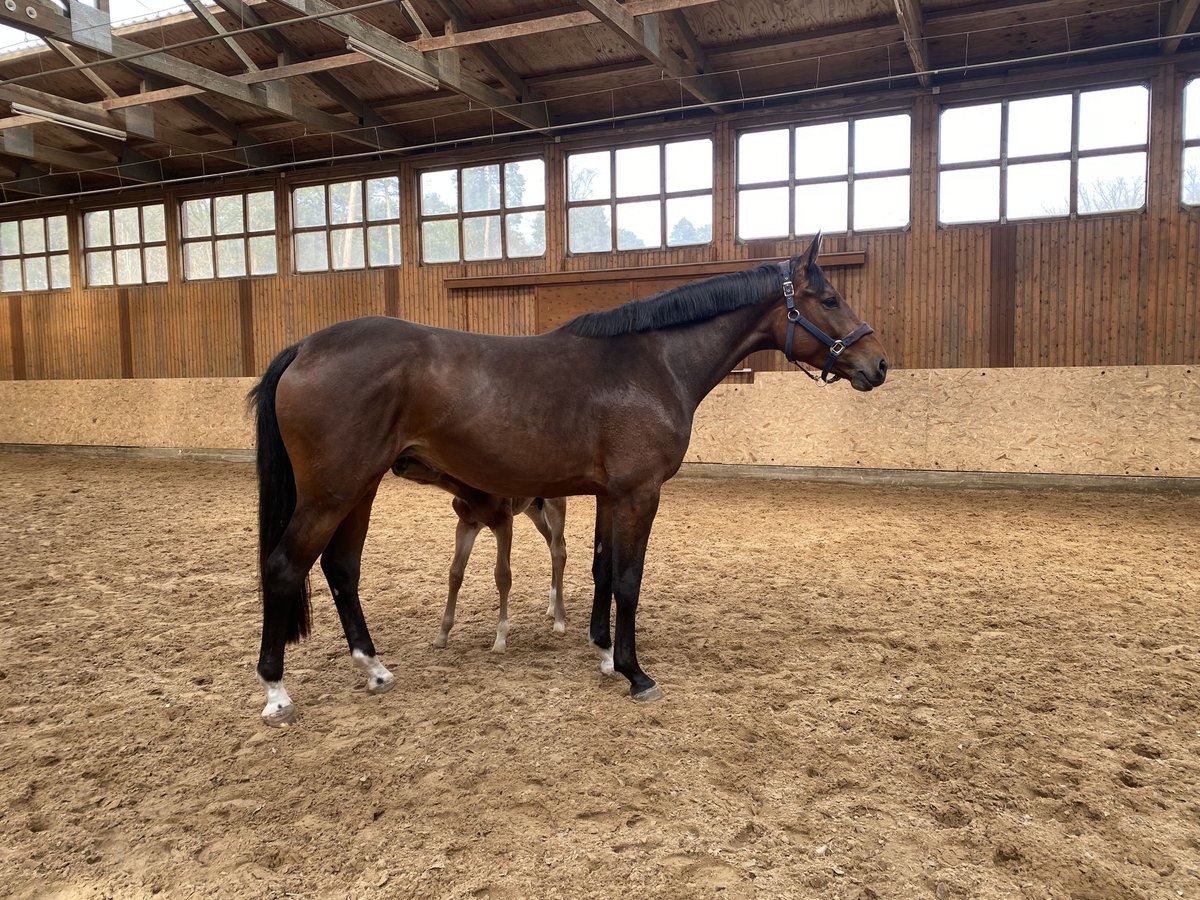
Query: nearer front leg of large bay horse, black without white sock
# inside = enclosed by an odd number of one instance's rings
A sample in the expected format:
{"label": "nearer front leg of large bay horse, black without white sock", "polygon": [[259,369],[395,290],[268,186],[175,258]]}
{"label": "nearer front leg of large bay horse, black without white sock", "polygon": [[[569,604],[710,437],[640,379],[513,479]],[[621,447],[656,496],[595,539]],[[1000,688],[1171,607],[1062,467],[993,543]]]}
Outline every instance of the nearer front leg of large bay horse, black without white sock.
{"label": "nearer front leg of large bay horse, black without white sock", "polygon": [[617,594],[617,641],[613,665],[629,679],[629,696],[659,700],[662,689],[637,665],[635,622],[650,526],[659,510],[659,486],[643,487],[613,500],[613,587]]}

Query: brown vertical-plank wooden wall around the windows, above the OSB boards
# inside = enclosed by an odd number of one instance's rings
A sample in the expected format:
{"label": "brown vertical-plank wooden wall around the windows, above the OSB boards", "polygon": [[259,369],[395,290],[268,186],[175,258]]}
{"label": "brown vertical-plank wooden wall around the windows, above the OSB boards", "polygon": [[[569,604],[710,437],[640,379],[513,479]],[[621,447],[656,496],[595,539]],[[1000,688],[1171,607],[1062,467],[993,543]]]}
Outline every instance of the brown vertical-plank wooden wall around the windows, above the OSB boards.
{"label": "brown vertical-plank wooden wall around the windows, above the OSB boards", "polygon": [[[1147,206],[1140,212],[1076,220],[938,227],[940,98],[924,95],[902,101],[913,114],[911,224],[902,230],[832,235],[824,245],[829,253],[860,254],[862,264],[836,268],[832,280],[876,328],[895,365],[1120,366],[1200,360],[1200,212],[1183,208],[1178,199],[1186,77],[1172,66],[1144,71],[1141,77],[1152,83]],[[1086,76],[1081,73],[1076,84],[1086,86]],[[1022,91],[1028,88],[1012,94]],[[896,101],[881,100],[876,106],[895,108]],[[182,282],[173,259],[168,284],[88,289],[82,287],[76,258],[70,290],[0,296],[0,378],[253,374],[288,343],[366,314],[473,331],[533,334],[568,313],[649,294],[692,275],[702,277],[713,264],[782,258],[803,250],[803,242],[745,244],[736,238],[737,133],[749,124],[812,118],[794,109],[760,110],[545,142],[540,146],[548,180],[547,253],[538,259],[419,264],[418,173],[452,158],[461,161],[462,154],[391,160],[370,169],[331,169],[330,179],[355,172],[398,173],[402,265],[295,275],[283,232],[278,235],[281,275],[272,277]],[[685,134],[709,134],[715,143],[713,242],[672,251],[570,256],[562,190],[566,154],[616,140]],[[467,158],[504,160],[528,152],[528,144],[514,144],[508,150],[469,151]],[[312,174],[306,178],[311,180]],[[253,186],[260,190],[262,184],[258,179]],[[275,179],[274,184],[277,209],[286,210],[290,182]],[[221,190],[235,187],[232,179],[221,185]],[[174,193],[154,198],[163,198],[168,211],[178,208]],[[132,199],[144,198],[122,193],[114,205]],[[80,210],[72,205],[68,214],[78,234]],[[175,232],[170,229],[169,250],[178,256]],[[668,277],[650,269],[664,265],[683,269]],[[563,277],[553,277],[598,270],[608,278],[564,283]],[[779,354],[756,354],[751,364],[760,370],[786,367]]]}

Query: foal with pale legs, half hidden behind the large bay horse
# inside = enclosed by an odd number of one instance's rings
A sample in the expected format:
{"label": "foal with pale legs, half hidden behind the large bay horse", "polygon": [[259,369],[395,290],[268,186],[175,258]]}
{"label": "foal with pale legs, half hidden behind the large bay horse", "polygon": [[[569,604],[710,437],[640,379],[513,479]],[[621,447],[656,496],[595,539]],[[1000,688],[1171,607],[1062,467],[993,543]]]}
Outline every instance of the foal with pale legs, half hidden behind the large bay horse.
{"label": "foal with pale legs, half hidden behind the large bay horse", "polygon": [[566,499],[563,497],[496,497],[464,485],[444,472],[431,469],[422,462],[402,456],[391,470],[403,479],[433,485],[454,496],[454,511],[458,516],[455,529],[454,560],[450,563],[450,595],[442,614],[442,630],[433,646],[445,649],[454,628],[458,606],[458,590],[475,538],[487,528],[496,536],[496,589],[500,595],[500,613],[496,623],[493,653],[504,653],[509,638],[509,592],[512,589],[512,520],[522,512],[538,528],[550,547],[550,606],[547,616],[554,617],[554,631],[566,634],[566,606],[563,602],[563,570],[566,568]]}

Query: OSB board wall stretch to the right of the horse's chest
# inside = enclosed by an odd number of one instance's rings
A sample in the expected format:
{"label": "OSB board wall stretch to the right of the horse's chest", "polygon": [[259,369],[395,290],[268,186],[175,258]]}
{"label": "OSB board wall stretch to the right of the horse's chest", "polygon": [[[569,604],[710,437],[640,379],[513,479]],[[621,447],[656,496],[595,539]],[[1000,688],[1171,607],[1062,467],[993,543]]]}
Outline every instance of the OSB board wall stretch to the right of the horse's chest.
{"label": "OSB board wall stretch to the right of the horse's chest", "polygon": [[859,394],[784,373],[719,385],[688,462],[1200,475],[1200,368],[893,372]]}

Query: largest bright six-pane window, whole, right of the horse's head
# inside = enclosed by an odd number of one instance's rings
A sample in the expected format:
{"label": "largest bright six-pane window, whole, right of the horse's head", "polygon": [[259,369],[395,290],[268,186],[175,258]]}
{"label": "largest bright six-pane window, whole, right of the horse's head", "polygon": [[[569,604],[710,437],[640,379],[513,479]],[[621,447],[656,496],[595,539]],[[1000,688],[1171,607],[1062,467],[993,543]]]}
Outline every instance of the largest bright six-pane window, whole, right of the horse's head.
{"label": "largest bright six-pane window, whole, right of the horse's head", "polygon": [[1141,209],[1148,125],[1145,85],[944,109],[938,221]]}

